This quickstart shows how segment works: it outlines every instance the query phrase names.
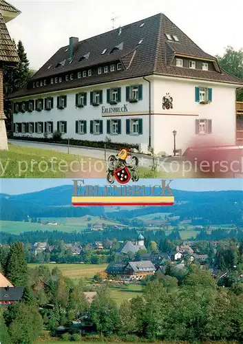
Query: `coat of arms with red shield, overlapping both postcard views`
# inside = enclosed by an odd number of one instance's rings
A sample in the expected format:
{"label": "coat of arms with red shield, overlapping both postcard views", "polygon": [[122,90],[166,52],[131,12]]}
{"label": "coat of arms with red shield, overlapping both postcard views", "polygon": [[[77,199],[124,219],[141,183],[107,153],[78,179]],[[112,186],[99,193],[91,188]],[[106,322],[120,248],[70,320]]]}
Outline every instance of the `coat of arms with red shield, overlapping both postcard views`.
{"label": "coat of arms with red shield, overlapping both postcard views", "polygon": [[131,156],[127,148],[120,149],[116,155],[110,155],[107,160],[107,182],[113,184],[117,180],[120,184],[126,184],[129,180],[138,182],[138,158]]}

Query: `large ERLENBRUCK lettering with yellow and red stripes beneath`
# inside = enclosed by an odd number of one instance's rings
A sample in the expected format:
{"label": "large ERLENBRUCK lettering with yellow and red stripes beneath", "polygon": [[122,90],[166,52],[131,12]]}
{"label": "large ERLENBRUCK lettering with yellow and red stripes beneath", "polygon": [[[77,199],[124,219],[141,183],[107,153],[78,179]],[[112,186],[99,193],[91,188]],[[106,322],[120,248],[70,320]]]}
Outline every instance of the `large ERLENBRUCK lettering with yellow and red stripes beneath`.
{"label": "large ERLENBRUCK lettering with yellow and red stripes beneath", "polygon": [[[152,181],[152,180],[151,180]],[[158,185],[85,185],[85,180],[73,180],[73,206],[173,206],[174,196],[169,184]]]}

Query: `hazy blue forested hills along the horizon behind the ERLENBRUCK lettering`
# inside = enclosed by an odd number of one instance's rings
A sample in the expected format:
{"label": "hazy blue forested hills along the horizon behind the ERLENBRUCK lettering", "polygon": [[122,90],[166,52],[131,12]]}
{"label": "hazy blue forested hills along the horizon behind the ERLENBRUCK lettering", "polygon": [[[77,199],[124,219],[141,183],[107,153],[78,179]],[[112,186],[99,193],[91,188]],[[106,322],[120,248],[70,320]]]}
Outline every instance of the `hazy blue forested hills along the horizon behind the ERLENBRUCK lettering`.
{"label": "hazy blue forested hills along the horizon behind the ERLENBRUCK lettering", "polygon": [[[105,210],[101,206],[73,207],[71,198],[72,185],[58,186],[43,191],[23,195],[0,194],[0,219],[22,221],[30,217],[81,217],[84,215],[101,216]],[[149,213],[173,213],[183,218],[203,218],[208,223],[242,223],[242,191],[180,191],[173,190],[176,204],[174,206],[148,206],[140,208],[120,207],[111,217],[134,218]],[[113,215],[114,214],[114,215]]]}

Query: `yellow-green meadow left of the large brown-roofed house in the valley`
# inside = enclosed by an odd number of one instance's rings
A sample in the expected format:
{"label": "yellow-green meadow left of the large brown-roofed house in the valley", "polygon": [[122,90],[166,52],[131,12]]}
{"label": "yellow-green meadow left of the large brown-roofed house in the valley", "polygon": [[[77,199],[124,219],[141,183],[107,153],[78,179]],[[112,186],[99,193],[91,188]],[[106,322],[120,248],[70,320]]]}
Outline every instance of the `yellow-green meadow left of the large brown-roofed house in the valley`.
{"label": "yellow-green meadow left of the large brown-roofed house in the valley", "polygon": [[[29,268],[35,268],[40,264],[28,264]],[[90,279],[97,272],[104,271],[107,268],[107,264],[45,264],[51,270],[53,268],[59,268],[65,277],[70,277],[70,279]]]}

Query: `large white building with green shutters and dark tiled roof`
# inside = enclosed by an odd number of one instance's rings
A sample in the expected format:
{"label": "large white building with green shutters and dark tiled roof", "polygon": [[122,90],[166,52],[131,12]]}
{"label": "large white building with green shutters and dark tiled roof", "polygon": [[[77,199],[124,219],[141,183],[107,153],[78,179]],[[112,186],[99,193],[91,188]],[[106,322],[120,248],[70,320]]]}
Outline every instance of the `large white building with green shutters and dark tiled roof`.
{"label": "large white building with green shutters and dark tiled roof", "polygon": [[57,130],[63,138],[107,137],[163,155],[184,153],[195,140],[235,145],[235,91],[242,85],[156,14],[83,41],[70,37],[10,96],[14,137]]}

